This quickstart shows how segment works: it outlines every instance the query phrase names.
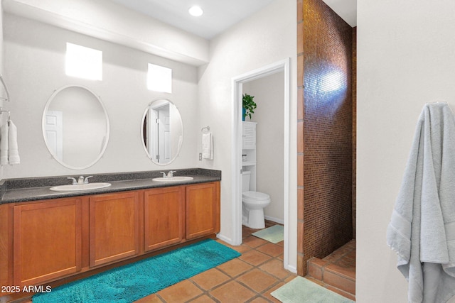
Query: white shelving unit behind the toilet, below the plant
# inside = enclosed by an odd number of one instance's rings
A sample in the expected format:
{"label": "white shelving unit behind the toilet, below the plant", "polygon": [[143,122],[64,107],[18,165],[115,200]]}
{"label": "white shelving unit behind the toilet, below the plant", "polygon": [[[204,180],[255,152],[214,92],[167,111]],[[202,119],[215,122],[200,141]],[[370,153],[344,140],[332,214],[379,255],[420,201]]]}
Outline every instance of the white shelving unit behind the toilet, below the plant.
{"label": "white shelving unit behind the toilet, below the plant", "polygon": [[[242,121],[242,170],[250,171],[250,190],[256,191],[256,124]],[[246,155],[246,160],[243,160]]]}

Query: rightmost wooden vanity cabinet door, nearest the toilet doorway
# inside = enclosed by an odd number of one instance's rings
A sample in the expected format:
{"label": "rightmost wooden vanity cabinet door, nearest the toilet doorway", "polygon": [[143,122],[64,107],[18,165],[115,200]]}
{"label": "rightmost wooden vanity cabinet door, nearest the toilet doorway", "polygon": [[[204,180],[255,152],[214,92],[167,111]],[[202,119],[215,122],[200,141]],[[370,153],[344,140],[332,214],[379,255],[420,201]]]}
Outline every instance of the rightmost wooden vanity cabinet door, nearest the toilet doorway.
{"label": "rightmost wooden vanity cabinet door, nearest the toilet doorway", "polygon": [[220,231],[219,182],[186,187],[186,238]]}

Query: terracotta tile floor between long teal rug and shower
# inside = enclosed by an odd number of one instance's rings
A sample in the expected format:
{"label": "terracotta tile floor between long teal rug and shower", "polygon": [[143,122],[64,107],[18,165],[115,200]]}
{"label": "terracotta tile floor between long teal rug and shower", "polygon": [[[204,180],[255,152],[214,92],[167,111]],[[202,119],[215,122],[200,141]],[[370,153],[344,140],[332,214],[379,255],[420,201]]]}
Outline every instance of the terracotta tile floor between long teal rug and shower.
{"label": "terracotta tile floor between long teal rug and shower", "polygon": [[[267,222],[267,226],[270,226]],[[273,244],[251,236],[257,230],[243,228],[241,246],[226,246],[242,253],[188,280],[137,301],[146,302],[279,302],[273,292],[296,275],[283,268],[283,242]]]}

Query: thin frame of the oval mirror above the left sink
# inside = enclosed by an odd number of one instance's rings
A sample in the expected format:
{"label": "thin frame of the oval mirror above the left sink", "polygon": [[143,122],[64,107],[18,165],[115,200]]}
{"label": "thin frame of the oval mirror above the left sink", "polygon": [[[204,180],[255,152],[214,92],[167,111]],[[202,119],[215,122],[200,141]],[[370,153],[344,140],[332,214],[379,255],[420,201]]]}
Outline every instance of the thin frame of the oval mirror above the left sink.
{"label": "thin frame of the oval mirror above the left sink", "polygon": [[[52,103],[52,101],[55,99],[55,97],[57,97],[58,93],[62,92],[64,89],[68,89],[69,87],[80,87],[82,89],[87,90],[87,92],[90,92],[90,94],[92,94],[93,97],[95,97],[95,99],[97,99],[97,101],[100,102],[100,105],[101,105],[103,111],[105,112],[105,119],[106,119],[106,140],[105,140],[105,144],[103,145],[100,154],[97,155],[97,158],[95,158],[95,160],[93,160],[89,164],[83,165],[83,166],[80,166],[80,167],[76,167],[76,166],[73,166],[73,165],[68,165],[67,163],[65,163],[62,160],[58,159],[56,157],[55,153],[53,153],[53,151],[50,150],[49,145],[48,145],[48,141],[47,141],[46,136],[45,136],[45,114],[48,111],[49,106]],[[88,168],[88,167],[90,167],[92,165],[95,165],[95,163],[98,162],[98,160],[100,160],[102,158],[102,156],[105,154],[105,151],[106,151],[106,148],[107,148],[107,143],[109,143],[110,124],[109,124],[109,116],[107,115],[107,110],[106,110],[105,104],[102,103],[101,97],[98,96],[97,94],[95,94],[95,92],[93,92],[92,89],[89,89],[88,87],[85,87],[85,86],[82,86],[82,85],[65,85],[64,87],[60,87],[60,89],[56,89],[53,92],[53,94],[50,95],[48,101],[46,102],[46,104],[44,106],[43,117],[41,119],[41,129],[43,131],[43,138],[44,138],[45,147],[48,149],[50,155],[52,155],[52,158],[57,160],[57,162],[59,162],[61,165],[65,166],[65,167],[68,167],[68,168],[70,168],[72,170],[84,170],[85,168]]]}

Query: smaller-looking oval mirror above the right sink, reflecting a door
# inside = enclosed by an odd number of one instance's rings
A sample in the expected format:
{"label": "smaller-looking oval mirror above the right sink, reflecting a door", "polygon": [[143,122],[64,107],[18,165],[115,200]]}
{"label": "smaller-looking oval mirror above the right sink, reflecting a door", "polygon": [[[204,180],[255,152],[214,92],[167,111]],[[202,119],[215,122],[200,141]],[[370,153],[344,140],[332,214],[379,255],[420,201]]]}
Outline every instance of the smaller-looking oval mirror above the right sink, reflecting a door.
{"label": "smaller-looking oval mirror above the right sink, reflecting a door", "polygon": [[152,101],[144,111],[141,138],[154,163],[167,165],[175,160],[183,142],[183,123],[177,106],[166,99]]}

